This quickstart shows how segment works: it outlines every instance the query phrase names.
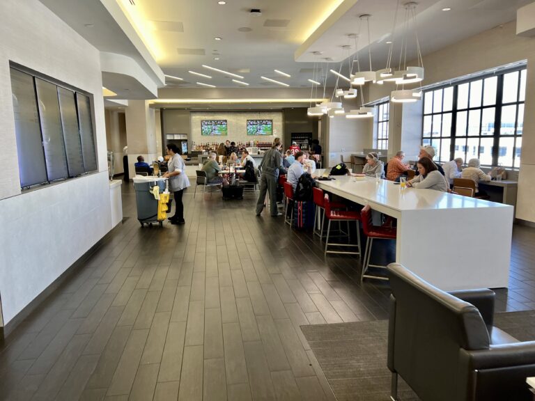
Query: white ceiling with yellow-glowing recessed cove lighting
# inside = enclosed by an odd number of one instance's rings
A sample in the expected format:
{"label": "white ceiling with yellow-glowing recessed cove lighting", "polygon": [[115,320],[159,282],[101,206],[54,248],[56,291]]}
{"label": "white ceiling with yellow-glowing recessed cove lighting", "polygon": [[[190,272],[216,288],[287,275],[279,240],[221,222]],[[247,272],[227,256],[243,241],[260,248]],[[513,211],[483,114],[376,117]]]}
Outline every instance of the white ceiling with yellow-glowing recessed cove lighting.
{"label": "white ceiling with yellow-glowing recessed cove lighting", "polygon": [[[54,13],[68,22],[95,47],[105,52],[116,52],[139,58],[132,42],[114,24],[102,7],[104,0],[41,0]],[[341,45],[348,40],[348,33],[358,30],[358,15],[372,14],[373,68],[382,68],[387,55],[387,40],[394,22],[397,0],[227,0],[220,6],[217,0],[117,0],[123,7],[130,7],[141,17],[141,32],[153,38],[155,59],[166,73],[184,81],[167,80],[170,87],[197,87],[197,81],[219,87],[239,87],[231,77],[202,68],[211,65],[222,70],[238,73],[240,79],[250,84],[249,88],[281,88],[263,81],[263,75],[286,82],[290,86],[309,87],[313,61],[317,56],[310,52],[323,52],[321,57],[340,61],[347,57]],[[417,0],[418,33],[422,51],[434,52],[451,43],[473,36],[515,19],[520,6],[532,0]],[[406,1],[400,0],[403,4]],[[354,5],[353,5],[354,4]],[[300,49],[301,56],[295,61],[295,52],[320,26],[328,13],[336,6],[349,8],[334,24],[323,26],[322,34],[316,35],[307,48]],[[451,7],[448,12],[444,7]],[[251,8],[260,8],[262,15],[251,16]],[[403,22],[402,10],[398,21]],[[88,28],[85,24],[93,24]],[[270,26],[266,26],[270,25]],[[278,26],[277,26],[278,25]],[[249,31],[250,29],[250,31]],[[362,32],[359,48],[364,49],[361,63],[366,58],[367,36]],[[145,35],[142,35],[145,36]],[[222,40],[216,41],[215,37]],[[394,38],[394,43],[399,38]],[[148,41],[146,41],[147,43]],[[150,47],[150,46],[149,46]],[[178,49],[181,49],[180,51]],[[355,52],[352,49],[351,52]],[[398,51],[397,51],[398,52]],[[189,53],[189,54],[185,54]],[[214,54],[217,53],[217,54]],[[409,47],[408,58],[414,56]],[[219,61],[214,58],[219,57]],[[320,57],[320,58],[321,58]],[[325,63],[325,60],[320,60]],[[331,64],[336,68],[335,65]],[[324,65],[325,67],[325,65]],[[330,68],[330,66],[329,66]],[[278,69],[291,74],[286,78],[276,74]],[[189,74],[188,70],[208,74],[212,79],[203,79]],[[242,71],[242,72],[238,72]],[[329,74],[328,86],[334,84]],[[109,85],[113,89],[113,85]]]}

